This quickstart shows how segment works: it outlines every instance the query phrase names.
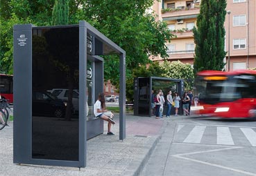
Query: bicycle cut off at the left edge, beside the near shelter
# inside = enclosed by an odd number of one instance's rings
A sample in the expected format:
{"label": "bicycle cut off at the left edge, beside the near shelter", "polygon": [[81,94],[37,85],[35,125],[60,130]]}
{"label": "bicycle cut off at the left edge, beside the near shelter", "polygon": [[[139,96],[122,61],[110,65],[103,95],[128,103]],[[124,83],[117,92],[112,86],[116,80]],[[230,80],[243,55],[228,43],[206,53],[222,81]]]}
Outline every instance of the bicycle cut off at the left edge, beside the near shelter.
{"label": "bicycle cut off at the left edge, beside the near shelter", "polygon": [[8,126],[7,121],[10,117],[8,109],[11,111],[8,100],[0,99],[0,130],[3,129],[5,126]]}

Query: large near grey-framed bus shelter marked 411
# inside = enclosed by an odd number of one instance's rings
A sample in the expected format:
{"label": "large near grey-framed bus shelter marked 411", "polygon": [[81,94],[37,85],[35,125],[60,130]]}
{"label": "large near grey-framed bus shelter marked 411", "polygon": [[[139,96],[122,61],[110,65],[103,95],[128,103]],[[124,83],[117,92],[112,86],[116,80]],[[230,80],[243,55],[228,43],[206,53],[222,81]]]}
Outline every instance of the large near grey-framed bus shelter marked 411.
{"label": "large near grey-framed bus shelter marked 411", "polygon": [[119,55],[119,139],[126,138],[123,49],[86,21],[15,25],[13,38],[14,163],[86,166],[87,139],[103,133],[93,113],[103,92],[103,55]]}

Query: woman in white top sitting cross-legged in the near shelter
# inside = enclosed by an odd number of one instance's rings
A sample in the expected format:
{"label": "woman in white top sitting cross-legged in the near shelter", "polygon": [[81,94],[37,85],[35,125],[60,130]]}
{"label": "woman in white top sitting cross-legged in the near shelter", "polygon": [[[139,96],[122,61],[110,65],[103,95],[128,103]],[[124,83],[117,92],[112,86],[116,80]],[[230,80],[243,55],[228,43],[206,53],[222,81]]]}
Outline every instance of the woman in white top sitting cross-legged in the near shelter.
{"label": "woman in white top sitting cross-legged in the near shelter", "polygon": [[114,135],[111,132],[111,124],[115,124],[112,117],[114,115],[105,108],[105,95],[104,93],[100,93],[98,96],[98,100],[94,104],[94,115],[95,117],[99,117],[105,121],[108,121],[108,135]]}

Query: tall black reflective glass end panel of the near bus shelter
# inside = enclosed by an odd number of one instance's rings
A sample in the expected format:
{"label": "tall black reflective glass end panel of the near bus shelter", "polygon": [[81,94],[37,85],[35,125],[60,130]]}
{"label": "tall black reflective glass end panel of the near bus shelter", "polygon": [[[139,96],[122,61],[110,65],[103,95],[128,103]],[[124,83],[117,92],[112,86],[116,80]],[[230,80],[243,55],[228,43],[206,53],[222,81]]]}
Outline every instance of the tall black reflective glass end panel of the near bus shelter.
{"label": "tall black reflective glass end panel of the near bus shelter", "polygon": [[[33,28],[32,158],[78,161],[78,27]],[[53,95],[51,92],[54,92]]]}

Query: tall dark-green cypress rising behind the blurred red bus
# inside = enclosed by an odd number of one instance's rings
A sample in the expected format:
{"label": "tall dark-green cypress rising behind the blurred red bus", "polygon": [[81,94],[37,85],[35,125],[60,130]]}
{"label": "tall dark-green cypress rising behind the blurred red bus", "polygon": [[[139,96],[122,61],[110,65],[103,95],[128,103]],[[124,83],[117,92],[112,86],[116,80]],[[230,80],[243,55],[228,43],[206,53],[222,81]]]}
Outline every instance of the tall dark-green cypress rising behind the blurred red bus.
{"label": "tall dark-green cypress rising behind the blurred red bus", "polygon": [[223,70],[225,0],[202,0],[200,14],[193,29],[196,43],[194,74],[200,70]]}

